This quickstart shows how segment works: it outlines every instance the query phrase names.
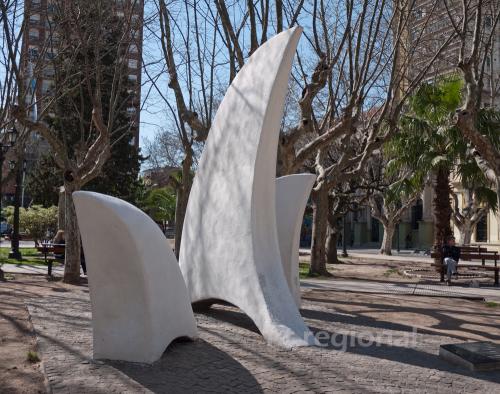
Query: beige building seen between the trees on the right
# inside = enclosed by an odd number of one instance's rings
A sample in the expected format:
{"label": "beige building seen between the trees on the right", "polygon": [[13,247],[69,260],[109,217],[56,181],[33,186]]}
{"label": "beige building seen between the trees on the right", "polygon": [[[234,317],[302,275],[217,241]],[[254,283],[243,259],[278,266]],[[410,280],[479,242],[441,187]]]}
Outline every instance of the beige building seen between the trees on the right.
{"label": "beige building seen between the trees on the right", "polygon": [[[419,72],[425,67],[429,56],[445,42],[453,29],[448,12],[459,18],[461,15],[462,2],[450,0],[447,2],[447,11],[442,0],[429,1],[417,0],[413,11],[412,23],[409,27],[408,39],[410,47],[412,42],[418,42],[416,48],[417,56],[412,64],[410,72]],[[485,2],[492,7],[492,15],[495,9],[500,7],[500,2]],[[456,19],[458,20],[458,19]],[[493,28],[493,18],[486,13],[483,20],[484,31],[489,34]],[[453,41],[441,54],[439,60],[428,73],[427,80],[437,76],[449,75],[457,72],[456,65],[460,44]],[[484,105],[500,107],[500,24],[493,32],[492,51],[486,60],[486,82],[483,92]],[[461,184],[453,182],[453,190],[457,195],[459,207],[466,204],[466,193]],[[427,186],[420,199],[406,212],[399,225],[399,231],[394,237],[393,246],[400,248],[429,250],[433,244],[433,215],[432,215],[432,188]],[[492,211],[488,213],[476,226],[472,234],[471,242],[484,244],[488,249],[500,251],[500,229],[499,216]],[[455,237],[460,239],[458,228],[453,226]],[[369,207],[362,207],[356,213],[350,213],[346,220],[347,245],[357,247],[378,247],[382,242],[383,227],[371,216]]]}

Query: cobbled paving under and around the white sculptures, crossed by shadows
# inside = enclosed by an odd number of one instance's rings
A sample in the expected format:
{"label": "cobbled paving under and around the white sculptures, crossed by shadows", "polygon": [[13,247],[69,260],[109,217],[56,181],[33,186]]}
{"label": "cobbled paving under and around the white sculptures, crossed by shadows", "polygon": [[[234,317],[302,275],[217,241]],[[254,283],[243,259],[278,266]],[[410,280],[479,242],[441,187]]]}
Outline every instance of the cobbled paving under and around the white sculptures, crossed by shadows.
{"label": "cobbled paving under and around the white sculptures, crossed by shadows", "polygon": [[269,346],[236,308],[216,306],[196,315],[199,339],[173,344],[159,362],[147,366],[92,361],[86,286],[40,281],[17,291],[28,303],[55,394],[500,391],[500,374],[471,373],[437,356],[440,344],[460,339],[414,333],[409,325],[363,316],[354,311],[356,302],[352,314],[341,313],[337,302],[325,303],[334,299],[333,292],[324,301],[315,301],[320,297],[315,294],[303,302],[302,315],[315,333],[322,332],[323,347],[287,351]]}

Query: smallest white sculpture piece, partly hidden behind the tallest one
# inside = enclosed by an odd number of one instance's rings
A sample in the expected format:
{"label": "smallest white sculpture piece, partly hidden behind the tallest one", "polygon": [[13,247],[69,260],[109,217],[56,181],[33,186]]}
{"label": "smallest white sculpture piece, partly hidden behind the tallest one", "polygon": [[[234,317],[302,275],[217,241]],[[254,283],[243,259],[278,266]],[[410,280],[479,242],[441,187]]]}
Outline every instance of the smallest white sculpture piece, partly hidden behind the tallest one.
{"label": "smallest white sculpture piece, partly hidden behind the tallest one", "polygon": [[276,221],[281,263],[290,292],[300,308],[299,247],[302,219],[316,180],[314,174],[295,174],[276,179]]}

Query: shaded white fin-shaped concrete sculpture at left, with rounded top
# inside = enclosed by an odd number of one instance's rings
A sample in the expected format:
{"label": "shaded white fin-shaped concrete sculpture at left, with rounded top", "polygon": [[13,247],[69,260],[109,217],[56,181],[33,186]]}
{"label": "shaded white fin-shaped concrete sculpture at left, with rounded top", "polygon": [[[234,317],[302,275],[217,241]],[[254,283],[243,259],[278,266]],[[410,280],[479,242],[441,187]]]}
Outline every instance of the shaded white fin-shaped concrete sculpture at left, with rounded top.
{"label": "shaded white fin-shaped concrete sculpture at left, with rounded top", "polygon": [[177,260],[144,212],[75,192],[92,304],[94,358],[152,363],[196,322]]}

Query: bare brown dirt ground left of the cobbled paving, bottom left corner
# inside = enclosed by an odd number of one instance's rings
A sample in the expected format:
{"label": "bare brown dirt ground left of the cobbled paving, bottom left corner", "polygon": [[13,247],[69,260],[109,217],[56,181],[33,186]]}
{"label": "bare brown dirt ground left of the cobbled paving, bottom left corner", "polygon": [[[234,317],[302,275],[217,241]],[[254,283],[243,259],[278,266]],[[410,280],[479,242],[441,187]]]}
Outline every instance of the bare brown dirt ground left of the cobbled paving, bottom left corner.
{"label": "bare brown dirt ground left of the cobbled paving, bottom left corner", "polygon": [[[36,342],[23,291],[36,292],[40,278],[0,282],[0,393],[45,393],[40,362],[29,362]],[[46,283],[46,281],[45,281]],[[13,285],[17,287],[13,292]],[[20,287],[25,287],[25,290]]]}

